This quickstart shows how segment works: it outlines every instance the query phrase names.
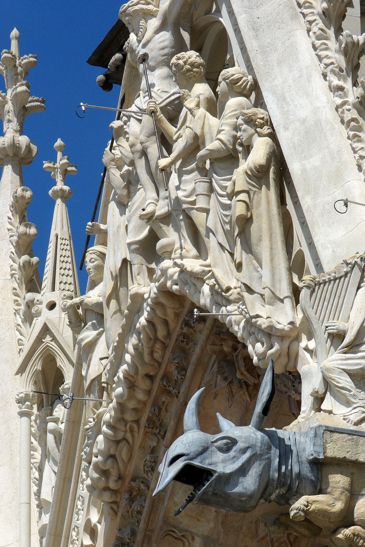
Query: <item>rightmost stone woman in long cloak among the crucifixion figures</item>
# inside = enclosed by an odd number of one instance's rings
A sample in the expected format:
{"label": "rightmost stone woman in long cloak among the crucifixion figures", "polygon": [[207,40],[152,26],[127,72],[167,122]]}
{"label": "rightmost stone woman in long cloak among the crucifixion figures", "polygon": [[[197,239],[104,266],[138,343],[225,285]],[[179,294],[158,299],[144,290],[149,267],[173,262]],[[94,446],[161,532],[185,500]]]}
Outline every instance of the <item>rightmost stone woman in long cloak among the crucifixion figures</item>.
{"label": "rightmost stone woman in long cloak among the crucifixion figures", "polygon": [[[251,148],[246,159],[245,147]],[[289,260],[279,195],[280,168],[267,112],[243,110],[238,117],[237,148],[242,157],[228,188],[232,201],[232,238],[236,276],[250,319],[280,334],[296,324]]]}

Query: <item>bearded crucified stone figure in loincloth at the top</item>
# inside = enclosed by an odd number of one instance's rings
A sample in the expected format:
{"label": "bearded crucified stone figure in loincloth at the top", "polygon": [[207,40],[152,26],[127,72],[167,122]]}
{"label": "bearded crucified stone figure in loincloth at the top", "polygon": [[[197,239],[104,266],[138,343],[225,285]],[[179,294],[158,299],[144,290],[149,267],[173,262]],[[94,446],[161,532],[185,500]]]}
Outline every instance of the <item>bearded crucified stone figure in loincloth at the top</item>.
{"label": "bearded crucified stone figure in loincloth at the top", "polygon": [[191,2],[166,0],[157,8],[152,0],[129,0],[122,5],[119,18],[130,32],[125,44],[128,61],[138,68],[141,77],[140,92],[129,109],[129,147],[133,154],[136,171],[146,194],[141,219],[162,218],[168,214],[168,195],[158,170],[158,151],[154,126],[145,112],[148,101],[143,66],[138,56],[146,51],[146,68],[153,98],[164,117],[176,121],[182,103],[180,91],[173,80],[170,67],[172,57],[186,48],[181,33],[182,22],[190,18]]}

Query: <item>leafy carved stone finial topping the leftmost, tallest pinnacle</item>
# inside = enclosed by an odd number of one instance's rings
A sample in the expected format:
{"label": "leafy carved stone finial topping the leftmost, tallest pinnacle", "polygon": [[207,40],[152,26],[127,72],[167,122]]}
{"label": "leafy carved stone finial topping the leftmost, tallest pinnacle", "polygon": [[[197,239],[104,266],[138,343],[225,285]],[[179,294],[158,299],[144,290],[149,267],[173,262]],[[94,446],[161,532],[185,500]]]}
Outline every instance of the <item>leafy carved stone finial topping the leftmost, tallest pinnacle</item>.
{"label": "leafy carved stone finial topping the leftmost, tallest pinnacle", "polygon": [[6,94],[0,91],[0,118],[4,136],[0,137],[0,165],[8,157],[16,157],[22,165],[30,165],[37,154],[37,146],[23,135],[25,118],[33,112],[43,112],[44,98],[31,97],[30,84],[25,81],[28,71],[37,65],[37,55],[19,57],[20,34],[14,28],[10,34],[11,51],[3,50],[0,74],[5,79]]}

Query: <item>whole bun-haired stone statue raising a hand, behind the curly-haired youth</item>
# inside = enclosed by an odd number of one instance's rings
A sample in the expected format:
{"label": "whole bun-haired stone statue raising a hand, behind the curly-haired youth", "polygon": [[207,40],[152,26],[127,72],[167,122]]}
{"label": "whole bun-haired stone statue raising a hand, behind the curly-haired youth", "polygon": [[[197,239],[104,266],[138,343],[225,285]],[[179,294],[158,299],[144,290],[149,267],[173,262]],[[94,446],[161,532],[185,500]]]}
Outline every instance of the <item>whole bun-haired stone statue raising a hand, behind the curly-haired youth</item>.
{"label": "whole bun-haired stone statue raising a hand, behind the curly-haired youth", "polygon": [[[194,131],[199,135],[201,150],[197,154],[197,166],[204,167],[209,160],[211,199],[207,217],[210,260],[203,264],[186,263],[183,267],[206,281],[212,281],[223,293],[229,295],[238,287],[234,266],[234,242],[231,229],[231,201],[227,188],[239,165],[237,144],[237,116],[243,109],[252,107],[249,98],[256,83],[242,68],[224,69],[218,80],[218,109],[225,107],[220,119],[201,107],[198,97],[182,92],[185,108],[195,118]],[[237,299],[237,295],[236,295]],[[240,297],[238,296],[238,301]]]}

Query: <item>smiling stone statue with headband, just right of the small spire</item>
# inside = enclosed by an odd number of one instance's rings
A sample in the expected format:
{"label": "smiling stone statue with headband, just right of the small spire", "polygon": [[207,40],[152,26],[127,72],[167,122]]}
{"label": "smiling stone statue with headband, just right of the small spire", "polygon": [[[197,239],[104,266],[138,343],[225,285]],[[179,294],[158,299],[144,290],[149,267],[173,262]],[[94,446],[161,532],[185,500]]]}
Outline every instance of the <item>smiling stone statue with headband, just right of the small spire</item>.
{"label": "smiling stone statue with headband, just right of the small spire", "polygon": [[[90,247],[85,267],[93,286],[83,296],[70,300],[67,305],[68,323],[78,335],[76,345],[83,364],[85,397],[102,398],[102,360],[108,357],[104,335],[102,285],[107,248]],[[77,357],[76,357],[77,358]]]}

